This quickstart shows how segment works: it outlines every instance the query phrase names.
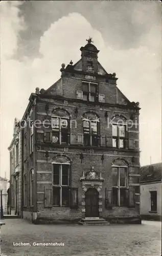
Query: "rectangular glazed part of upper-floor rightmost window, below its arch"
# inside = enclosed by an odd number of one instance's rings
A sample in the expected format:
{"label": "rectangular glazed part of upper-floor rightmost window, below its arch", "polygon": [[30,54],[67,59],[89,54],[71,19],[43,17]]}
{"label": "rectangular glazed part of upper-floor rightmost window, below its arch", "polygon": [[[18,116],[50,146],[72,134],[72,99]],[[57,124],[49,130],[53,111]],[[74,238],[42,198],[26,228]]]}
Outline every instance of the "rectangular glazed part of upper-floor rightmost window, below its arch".
{"label": "rectangular glazed part of upper-floor rightmost window, below its arch", "polygon": [[112,146],[118,148],[125,147],[126,125],[112,124]]}

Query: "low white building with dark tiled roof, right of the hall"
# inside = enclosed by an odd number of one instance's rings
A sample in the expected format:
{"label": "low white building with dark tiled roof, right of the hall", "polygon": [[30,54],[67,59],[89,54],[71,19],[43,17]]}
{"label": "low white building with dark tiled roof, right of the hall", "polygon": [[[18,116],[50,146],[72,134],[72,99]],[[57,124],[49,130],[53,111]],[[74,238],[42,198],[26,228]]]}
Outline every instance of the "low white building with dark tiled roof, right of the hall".
{"label": "low white building with dark tiled roof, right of the hall", "polygon": [[162,164],[141,167],[141,217],[161,220],[161,178]]}

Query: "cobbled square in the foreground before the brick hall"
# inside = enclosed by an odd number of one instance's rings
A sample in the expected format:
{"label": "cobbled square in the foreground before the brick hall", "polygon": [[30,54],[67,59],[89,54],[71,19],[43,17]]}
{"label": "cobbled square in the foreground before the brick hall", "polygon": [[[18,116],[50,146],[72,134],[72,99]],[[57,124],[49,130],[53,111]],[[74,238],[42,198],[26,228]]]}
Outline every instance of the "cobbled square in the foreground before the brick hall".
{"label": "cobbled square in the foreground before the brick hall", "polygon": [[[2,252],[7,256],[161,256],[161,222],[140,225],[34,225],[7,219],[2,226]],[[16,246],[14,243],[30,243]],[[33,243],[64,243],[34,246]]]}

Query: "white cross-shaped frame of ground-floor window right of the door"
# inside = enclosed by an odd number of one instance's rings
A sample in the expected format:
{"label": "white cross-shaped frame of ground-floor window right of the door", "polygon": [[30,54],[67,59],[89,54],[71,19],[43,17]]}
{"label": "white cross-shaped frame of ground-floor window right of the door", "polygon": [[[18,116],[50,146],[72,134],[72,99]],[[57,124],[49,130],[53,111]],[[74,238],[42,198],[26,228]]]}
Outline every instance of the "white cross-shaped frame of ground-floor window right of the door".
{"label": "white cross-shaped frame of ground-floor window right of the door", "polygon": [[[114,187],[114,188],[118,189],[118,205],[114,205],[114,206],[121,207],[120,189],[121,188],[125,188],[125,189],[128,188],[128,185],[126,183],[126,181],[127,181],[128,166],[126,166],[126,165],[112,165],[112,168],[118,168],[118,184],[117,184],[117,186],[113,186],[113,184],[112,184],[112,188]],[[125,186],[120,186],[120,168],[125,168]]]}

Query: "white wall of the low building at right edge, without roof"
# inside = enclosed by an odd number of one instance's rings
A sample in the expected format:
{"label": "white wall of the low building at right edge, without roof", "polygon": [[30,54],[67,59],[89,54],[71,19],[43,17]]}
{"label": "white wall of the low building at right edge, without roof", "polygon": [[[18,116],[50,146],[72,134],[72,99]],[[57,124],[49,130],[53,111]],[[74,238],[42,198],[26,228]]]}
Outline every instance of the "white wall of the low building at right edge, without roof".
{"label": "white wall of the low building at right edge, without roof", "polygon": [[[150,191],[157,191],[157,213],[151,211]],[[141,215],[161,216],[161,183],[144,184],[140,186]]]}

